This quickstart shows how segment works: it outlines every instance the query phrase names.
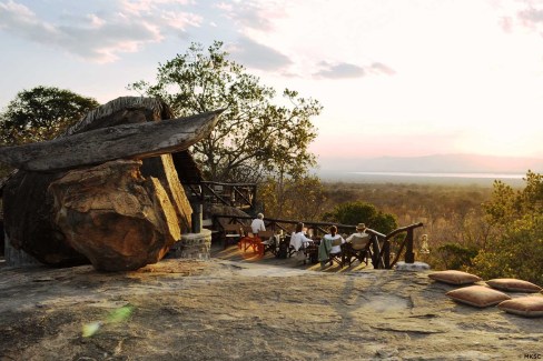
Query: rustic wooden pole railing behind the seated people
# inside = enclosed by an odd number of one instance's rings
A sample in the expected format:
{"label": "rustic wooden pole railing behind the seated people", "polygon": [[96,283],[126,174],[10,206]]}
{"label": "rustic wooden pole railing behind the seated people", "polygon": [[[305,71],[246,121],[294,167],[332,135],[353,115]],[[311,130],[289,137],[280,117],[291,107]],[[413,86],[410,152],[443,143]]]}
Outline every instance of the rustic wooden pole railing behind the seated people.
{"label": "rustic wooden pole railing behind the seated people", "polygon": [[[214,215],[214,224],[244,224],[247,225],[253,220],[251,217],[234,217],[234,215]],[[266,230],[272,230],[278,232],[283,230],[286,233],[294,231],[296,224],[299,221],[284,220],[284,219],[265,219]],[[328,228],[330,225],[336,225],[339,234],[349,234],[356,230],[356,225],[351,224],[339,224],[330,222],[313,222],[305,221],[304,225],[307,228],[309,233],[314,238],[322,238],[324,234],[328,233]],[[388,234],[383,234],[372,229],[366,229],[365,232],[372,235],[372,264],[375,269],[392,269],[396,262],[399,260],[402,253],[405,249],[404,260],[405,263],[415,262],[414,252],[414,230],[416,228],[423,227],[423,223],[414,223],[406,227],[397,228]],[[403,240],[397,241],[397,235],[405,233]],[[392,251],[392,245],[395,245],[394,252]],[[392,258],[392,260],[391,260]]]}

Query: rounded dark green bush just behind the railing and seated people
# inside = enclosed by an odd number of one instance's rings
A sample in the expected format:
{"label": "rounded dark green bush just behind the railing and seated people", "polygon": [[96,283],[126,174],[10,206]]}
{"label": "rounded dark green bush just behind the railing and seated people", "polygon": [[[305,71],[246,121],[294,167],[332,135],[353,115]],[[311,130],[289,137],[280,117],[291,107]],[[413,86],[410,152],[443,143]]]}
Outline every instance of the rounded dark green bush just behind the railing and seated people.
{"label": "rounded dark green bush just behind the railing and seated people", "polygon": [[387,234],[397,228],[396,218],[391,213],[378,211],[375,205],[366,202],[346,202],[337,205],[323,218],[342,224],[365,223],[367,228]]}

